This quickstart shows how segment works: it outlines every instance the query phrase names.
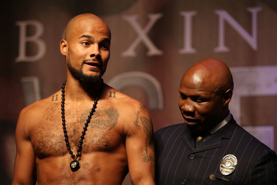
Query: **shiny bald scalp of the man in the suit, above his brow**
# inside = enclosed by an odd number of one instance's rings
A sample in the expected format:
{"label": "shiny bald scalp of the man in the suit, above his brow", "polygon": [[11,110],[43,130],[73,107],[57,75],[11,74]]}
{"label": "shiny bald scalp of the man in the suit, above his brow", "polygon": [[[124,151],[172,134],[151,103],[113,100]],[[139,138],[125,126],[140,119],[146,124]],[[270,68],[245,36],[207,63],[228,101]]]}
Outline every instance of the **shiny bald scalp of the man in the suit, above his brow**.
{"label": "shiny bald scalp of the man in the suit, above his brow", "polygon": [[186,78],[193,78],[194,82],[214,86],[215,90],[233,90],[233,77],[229,67],[221,60],[205,58],[196,62],[185,73]]}

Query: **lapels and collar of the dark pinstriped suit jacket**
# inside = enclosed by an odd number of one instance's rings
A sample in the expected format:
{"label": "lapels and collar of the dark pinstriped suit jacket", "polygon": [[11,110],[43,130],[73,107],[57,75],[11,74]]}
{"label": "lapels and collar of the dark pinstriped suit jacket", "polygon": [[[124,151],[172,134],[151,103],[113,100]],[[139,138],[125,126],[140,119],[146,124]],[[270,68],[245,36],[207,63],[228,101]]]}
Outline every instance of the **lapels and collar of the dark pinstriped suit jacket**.
{"label": "lapels and collar of the dark pinstriped suit jacket", "polygon": [[196,149],[194,149],[194,140],[191,136],[191,133],[188,131],[187,127],[184,130],[182,139],[190,151],[192,152],[206,151],[206,150],[222,147],[222,139],[230,139],[234,128],[235,128],[235,120],[233,119],[233,116],[232,116],[232,119],[226,125],[218,129],[214,134],[205,138],[205,140]]}

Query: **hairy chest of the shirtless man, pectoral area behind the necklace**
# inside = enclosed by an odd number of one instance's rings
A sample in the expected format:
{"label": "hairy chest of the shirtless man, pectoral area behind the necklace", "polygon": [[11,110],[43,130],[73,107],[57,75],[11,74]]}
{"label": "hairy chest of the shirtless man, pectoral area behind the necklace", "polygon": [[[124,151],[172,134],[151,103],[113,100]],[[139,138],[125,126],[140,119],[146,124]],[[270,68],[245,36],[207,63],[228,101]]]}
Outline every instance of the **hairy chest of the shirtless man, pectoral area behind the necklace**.
{"label": "hairy chest of the shirtless man, pectoral area behind the necklace", "polygon": [[[65,127],[71,150],[76,155],[83,127],[91,109],[65,110]],[[38,158],[69,155],[62,125],[60,106],[46,109],[33,124],[30,138]],[[48,116],[46,116],[48,115]],[[119,130],[119,112],[115,108],[97,108],[93,113],[85,132],[81,154],[105,151],[112,152],[124,145],[124,136]]]}

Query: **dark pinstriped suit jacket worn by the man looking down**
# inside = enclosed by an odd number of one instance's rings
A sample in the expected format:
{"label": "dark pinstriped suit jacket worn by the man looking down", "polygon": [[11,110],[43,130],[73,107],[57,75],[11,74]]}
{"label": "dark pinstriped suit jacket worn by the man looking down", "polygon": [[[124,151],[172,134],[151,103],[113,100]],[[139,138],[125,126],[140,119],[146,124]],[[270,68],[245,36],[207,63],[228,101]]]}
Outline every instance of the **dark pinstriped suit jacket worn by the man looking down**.
{"label": "dark pinstriped suit jacket worn by the man looking down", "polygon": [[[276,153],[237,125],[233,116],[197,149],[185,123],[160,129],[155,132],[155,149],[157,185],[277,185]],[[237,158],[237,166],[230,175],[222,175],[219,165],[228,154]],[[230,182],[209,180],[211,174]]]}

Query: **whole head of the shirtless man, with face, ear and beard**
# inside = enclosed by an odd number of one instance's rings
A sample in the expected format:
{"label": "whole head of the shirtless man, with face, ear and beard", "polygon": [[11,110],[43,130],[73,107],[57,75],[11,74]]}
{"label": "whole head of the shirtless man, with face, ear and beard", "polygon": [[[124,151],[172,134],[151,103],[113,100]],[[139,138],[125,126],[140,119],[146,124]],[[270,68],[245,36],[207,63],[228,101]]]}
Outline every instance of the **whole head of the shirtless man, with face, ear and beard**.
{"label": "whole head of the shirtless man, with face, ear and beard", "polygon": [[110,58],[111,32],[107,24],[94,14],[72,18],[60,42],[65,56],[68,78],[80,82],[99,82]]}

